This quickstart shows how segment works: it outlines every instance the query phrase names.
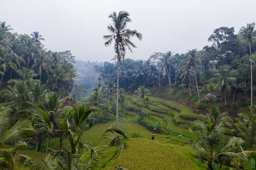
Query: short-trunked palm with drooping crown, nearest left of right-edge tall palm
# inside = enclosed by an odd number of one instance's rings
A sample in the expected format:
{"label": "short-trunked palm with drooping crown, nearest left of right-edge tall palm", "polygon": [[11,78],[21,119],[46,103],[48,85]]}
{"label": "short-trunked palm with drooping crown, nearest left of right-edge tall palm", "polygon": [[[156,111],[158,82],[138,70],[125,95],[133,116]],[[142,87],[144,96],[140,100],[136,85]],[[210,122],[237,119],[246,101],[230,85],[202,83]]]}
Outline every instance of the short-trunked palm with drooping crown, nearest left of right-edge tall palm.
{"label": "short-trunked palm with drooping crown, nearest left of right-edge tall palm", "polygon": [[234,83],[237,80],[236,78],[229,76],[233,72],[236,72],[236,71],[233,70],[233,71],[229,72],[229,67],[227,65],[223,65],[223,66],[221,66],[220,71],[218,71],[214,75],[214,78],[210,79],[211,82],[214,82],[217,84],[220,91],[222,92],[226,106],[227,106],[226,95],[228,93],[230,93],[230,91],[232,89],[231,85],[234,85]]}

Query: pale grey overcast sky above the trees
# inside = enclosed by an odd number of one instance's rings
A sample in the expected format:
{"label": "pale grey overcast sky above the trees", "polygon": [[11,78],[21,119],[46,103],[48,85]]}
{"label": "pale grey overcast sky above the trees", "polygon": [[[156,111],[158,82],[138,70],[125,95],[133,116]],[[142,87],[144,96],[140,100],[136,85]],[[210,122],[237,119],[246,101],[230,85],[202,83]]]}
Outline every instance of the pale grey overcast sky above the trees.
{"label": "pale grey overcast sky above the trees", "polygon": [[70,50],[76,59],[111,61],[114,44],[104,46],[113,11],[130,13],[127,28],[143,35],[132,38],[137,48],[125,58],[149,58],[155,52],[186,53],[210,44],[220,27],[238,32],[256,22],[256,0],[0,0],[0,21],[18,34],[33,31],[45,38],[51,51]]}

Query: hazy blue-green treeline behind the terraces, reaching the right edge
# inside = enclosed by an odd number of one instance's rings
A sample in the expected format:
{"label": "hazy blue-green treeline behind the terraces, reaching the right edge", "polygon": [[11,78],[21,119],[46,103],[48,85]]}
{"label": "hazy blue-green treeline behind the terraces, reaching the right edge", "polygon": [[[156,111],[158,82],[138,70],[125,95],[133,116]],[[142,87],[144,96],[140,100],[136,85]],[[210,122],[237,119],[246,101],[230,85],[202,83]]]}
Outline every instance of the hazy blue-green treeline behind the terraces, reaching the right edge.
{"label": "hazy blue-green treeline behind the terraces, reaching the right edge", "polygon": [[[212,44],[200,51],[154,53],[147,60],[125,59],[119,68],[119,86],[127,91],[134,91],[142,85],[152,89],[180,88],[198,102],[202,100],[200,94],[205,91],[210,98],[219,95],[226,105],[229,98],[230,103],[240,99],[241,106],[248,106],[252,101],[250,92],[256,92],[256,79],[252,76],[256,71],[253,66],[256,50],[254,26],[255,23],[250,23],[238,34],[233,27],[218,28],[208,38]],[[104,62],[102,66],[96,65],[95,70],[105,86],[116,82],[116,63]]]}

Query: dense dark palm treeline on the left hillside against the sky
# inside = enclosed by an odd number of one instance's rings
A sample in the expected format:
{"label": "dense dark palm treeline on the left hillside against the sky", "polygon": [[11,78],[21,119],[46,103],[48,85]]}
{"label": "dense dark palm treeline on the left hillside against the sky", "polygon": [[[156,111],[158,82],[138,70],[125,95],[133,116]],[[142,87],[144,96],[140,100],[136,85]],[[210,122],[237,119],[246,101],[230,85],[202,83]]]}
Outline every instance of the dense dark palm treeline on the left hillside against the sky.
{"label": "dense dark palm treeline on the left hillside against the sky", "polygon": [[6,88],[15,79],[35,79],[62,98],[72,90],[76,72],[70,51],[52,52],[44,48],[39,32],[31,35],[11,33],[0,22],[0,86]]}

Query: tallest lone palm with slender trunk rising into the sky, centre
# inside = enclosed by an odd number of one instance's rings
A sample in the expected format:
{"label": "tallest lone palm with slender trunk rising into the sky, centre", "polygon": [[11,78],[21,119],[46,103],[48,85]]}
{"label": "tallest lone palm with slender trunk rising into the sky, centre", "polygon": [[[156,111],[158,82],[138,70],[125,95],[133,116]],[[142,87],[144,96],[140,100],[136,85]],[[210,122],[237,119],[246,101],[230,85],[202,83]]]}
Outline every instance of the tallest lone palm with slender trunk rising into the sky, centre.
{"label": "tallest lone palm with slender trunk rising into the sky, centre", "polygon": [[129,13],[126,11],[120,11],[118,15],[116,12],[110,14],[109,18],[112,19],[113,24],[108,26],[108,30],[112,33],[111,35],[103,36],[104,39],[108,40],[105,45],[108,46],[114,40],[115,53],[117,55],[117,90],[116,90],[116,121],[118,121],[118,89],[119,89],[119,64],[121,59],[124,60],[126,48],[132,52],[132,47],[136,47],[131,41],[130,37],[136,36],[139,40],[142,39],[142,34],[136,30],[126,29],[127,23],[132,20],[129,17]]}

